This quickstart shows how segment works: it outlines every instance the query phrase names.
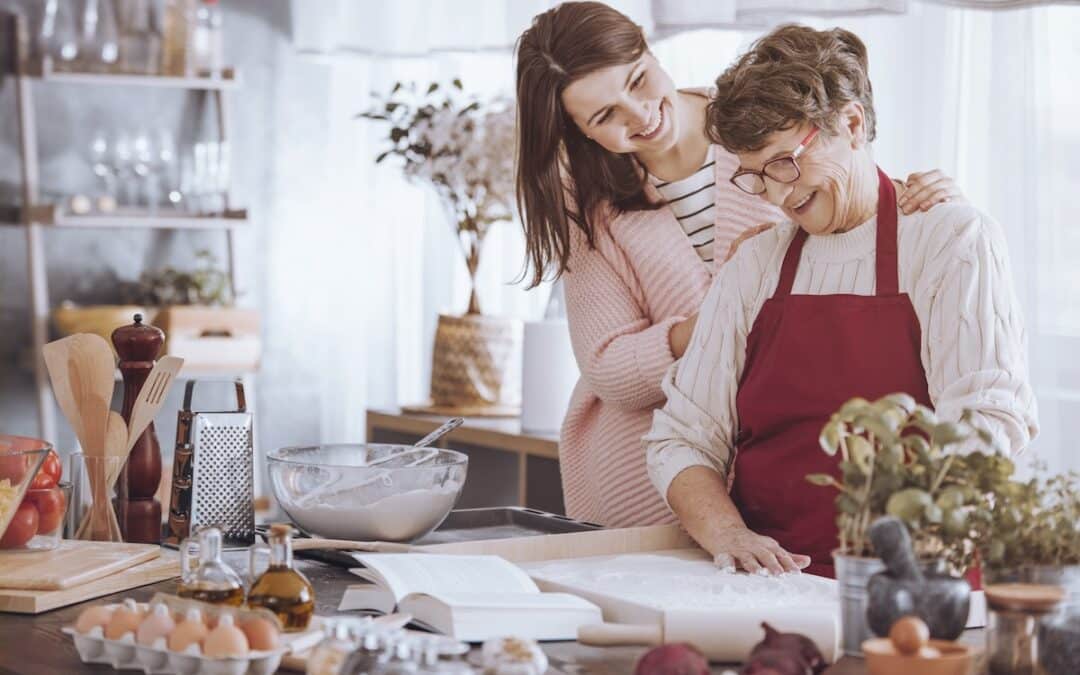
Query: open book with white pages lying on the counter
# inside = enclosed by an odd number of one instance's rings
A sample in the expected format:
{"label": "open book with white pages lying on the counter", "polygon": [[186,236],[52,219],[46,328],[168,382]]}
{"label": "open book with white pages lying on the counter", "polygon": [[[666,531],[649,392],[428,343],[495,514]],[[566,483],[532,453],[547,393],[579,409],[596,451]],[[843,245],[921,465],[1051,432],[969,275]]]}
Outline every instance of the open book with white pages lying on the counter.
{"label": "open book with white pages lying on the counter", "polygon": [[514,635],[577,639],[578,626],[603,621],[596,605],[566,593],[541,593],[512,563],[495,555],[355,554],[351,570],[366,583],[341,596],[339,610],[411,615],[464,642]]}

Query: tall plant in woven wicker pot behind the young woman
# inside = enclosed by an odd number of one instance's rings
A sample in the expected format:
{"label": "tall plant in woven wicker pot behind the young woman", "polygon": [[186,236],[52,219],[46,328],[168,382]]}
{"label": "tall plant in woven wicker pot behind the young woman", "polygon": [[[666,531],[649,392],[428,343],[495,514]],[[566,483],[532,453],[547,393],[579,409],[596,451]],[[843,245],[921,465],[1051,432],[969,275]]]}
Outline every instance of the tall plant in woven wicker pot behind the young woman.
{"label": "tall plant in woven wicker pot behind the young woman", "polygon": [[521,322],[486,316],[476,293],[484,241],[513,217],[514,108],[482,102],[460,80],[422,91],[399,82],[359,117],[388,129],[376,163],[396,161],[405,176],[434,189],[446,207],[469,273],[469,306],[441,314],[432,352],[431,404],[436,413],[516,415],[521,400]]}

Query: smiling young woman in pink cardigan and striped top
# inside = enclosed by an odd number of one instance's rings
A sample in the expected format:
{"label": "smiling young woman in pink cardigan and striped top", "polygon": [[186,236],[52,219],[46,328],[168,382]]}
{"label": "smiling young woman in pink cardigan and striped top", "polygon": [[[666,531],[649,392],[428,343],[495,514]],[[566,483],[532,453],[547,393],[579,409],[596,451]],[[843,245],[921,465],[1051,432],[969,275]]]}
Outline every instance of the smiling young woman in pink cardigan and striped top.
{"label": "smiling young woman in pink cardigan and striped top", "polygon": [[[704,90],[678,91],[639,26],[600,2],[538,15],[517,43],[517,199],[532,283],[562,275],[581,380],[559,441],[567,513],[674,522],[640,438],[740,235],[783,214],[732,186]],[[915,174],[904,213],[958,197]],[[705,458],[703,458],[703,461]]]}

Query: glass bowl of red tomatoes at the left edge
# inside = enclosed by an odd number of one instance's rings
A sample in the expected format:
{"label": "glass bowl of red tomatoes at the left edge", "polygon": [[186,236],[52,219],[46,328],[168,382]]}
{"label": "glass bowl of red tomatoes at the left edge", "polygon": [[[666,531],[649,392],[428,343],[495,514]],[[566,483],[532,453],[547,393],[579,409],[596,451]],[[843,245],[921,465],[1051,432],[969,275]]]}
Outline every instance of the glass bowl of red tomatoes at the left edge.
{"label": "glass bowl of red tomatoes at the left edge", "polygon": [[70,495],[62,469],[50,443],[0,434],[0,554],[59,544]]}

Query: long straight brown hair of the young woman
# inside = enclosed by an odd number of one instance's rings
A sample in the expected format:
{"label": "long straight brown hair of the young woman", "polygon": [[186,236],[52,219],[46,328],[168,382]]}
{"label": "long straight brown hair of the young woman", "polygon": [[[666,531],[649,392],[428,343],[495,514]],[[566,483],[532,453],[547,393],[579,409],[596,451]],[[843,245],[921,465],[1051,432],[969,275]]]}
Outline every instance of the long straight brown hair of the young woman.
{"label": "long straight brown hair of the young woman", "polygon": [[[570,228],[590,246],[603,210],[657,208],[633,154],[609,152],[581,133],[563,91],[648,50],[640,26],[603,2],[565,2],[538,14],[517,40],[517,210],[534,287],[567,269]],[[569,197],[569,199],[568,199]]]}

